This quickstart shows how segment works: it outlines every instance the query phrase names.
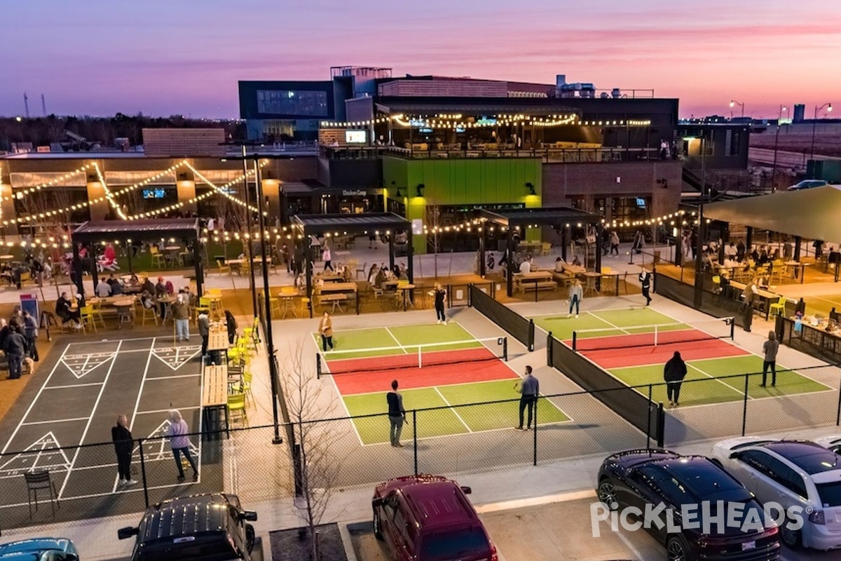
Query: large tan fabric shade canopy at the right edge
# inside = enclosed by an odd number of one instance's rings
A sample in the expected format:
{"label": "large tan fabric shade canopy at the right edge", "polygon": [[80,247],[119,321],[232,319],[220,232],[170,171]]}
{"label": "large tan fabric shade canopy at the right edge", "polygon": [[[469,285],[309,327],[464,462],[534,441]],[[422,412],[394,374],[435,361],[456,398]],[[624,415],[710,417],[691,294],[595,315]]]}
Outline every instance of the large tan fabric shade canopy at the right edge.
{"label": "large tan fabric shade canopy at the right edge", "polygon": [[841,188],[828,185],[706,204],[704,218],[841,242]]}

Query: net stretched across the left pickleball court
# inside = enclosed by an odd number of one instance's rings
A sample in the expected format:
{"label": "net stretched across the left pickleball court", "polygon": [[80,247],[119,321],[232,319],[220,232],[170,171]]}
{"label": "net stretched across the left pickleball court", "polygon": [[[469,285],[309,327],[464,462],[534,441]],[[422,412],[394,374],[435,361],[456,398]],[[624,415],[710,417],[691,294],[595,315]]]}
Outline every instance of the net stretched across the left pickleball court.
{"label": "net stretched across the left pickleball court", "polygon": [[508,360],[506,336],[398,347],[319,350],[315,355],[315,371],[320,377],[498,360]]}

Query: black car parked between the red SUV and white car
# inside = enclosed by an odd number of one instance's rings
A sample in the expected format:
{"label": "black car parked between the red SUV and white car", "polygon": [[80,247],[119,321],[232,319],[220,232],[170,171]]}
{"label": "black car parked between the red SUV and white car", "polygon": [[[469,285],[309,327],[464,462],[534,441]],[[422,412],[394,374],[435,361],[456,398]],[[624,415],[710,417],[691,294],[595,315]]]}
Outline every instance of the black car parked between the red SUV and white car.
{"label": "black car parked between the red SUV and white car", "polygon": [[[657,516],[662,526],[650,520],[647,529],[664,544],[669,560],[768,561],[780,558],[779,531],[772,522],[765,520],[762,505],[743,484],[709,458],[680,456],[662,449],[616,453],[601,464],[596,492],[607,508],[632,506]],[[659,509],[660,505],[664,509]],[[704,505],[711,515],[706,527],[713,530],[706,534],[703,533]],[[720,505],[725,512],[717,510]],[[683,521],[684,506],[692,507],[696,516],[688,516]],[[741,516],[731,519],[731,506],[738,506]],[[667,509],[674,513],[671,532]],[[723,527],[721,522],[715,522],[718,516],[725,521]],[[751,525],[746,521],[759,521],[762,528],[749,527]]]}

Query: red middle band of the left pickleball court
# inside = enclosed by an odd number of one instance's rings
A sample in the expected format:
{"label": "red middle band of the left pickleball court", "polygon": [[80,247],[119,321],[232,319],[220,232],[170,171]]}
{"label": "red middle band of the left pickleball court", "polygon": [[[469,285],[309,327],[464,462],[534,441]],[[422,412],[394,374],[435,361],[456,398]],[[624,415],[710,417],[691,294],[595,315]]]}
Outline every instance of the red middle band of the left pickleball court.
{"label": "red middle band of the left pickleball court", "polygon": [[[464,352],[464,351],[461,351]],[[330,361],[327,363],[332,367]],[[389,391],[391,381],[399,380],[400,389],[428,388],[448,384],[469,384],[517,378],[505,363],[499,359],[475,363],[442,364],[424,368],[399,368],[397,370],[336,374],[333,380],[343,395],[370,394]]]}

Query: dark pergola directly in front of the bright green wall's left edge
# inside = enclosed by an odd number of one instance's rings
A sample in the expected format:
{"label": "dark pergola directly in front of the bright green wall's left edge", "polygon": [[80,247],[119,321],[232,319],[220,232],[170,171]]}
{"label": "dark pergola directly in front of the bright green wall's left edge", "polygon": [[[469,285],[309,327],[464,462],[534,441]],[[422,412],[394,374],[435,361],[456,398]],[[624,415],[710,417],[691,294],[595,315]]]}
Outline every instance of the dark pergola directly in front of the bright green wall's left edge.
{"label": "dark pergola directly in front of the bright green wall's left edge", "polygon": [[[405,230],[407,233],[409,282],[414,280],[412,263],[411,222],[399,214],[296,214],[292,217],[292,227],[304,239],[304,273],[307,279],[306,294],[312,294],[312,251],[309,236],[345,236],[347,234],[386,235],[389,237],[389,267],[394,267],[394,232]],[[309,317],[313,316],[313,307],[309,306]]]}

